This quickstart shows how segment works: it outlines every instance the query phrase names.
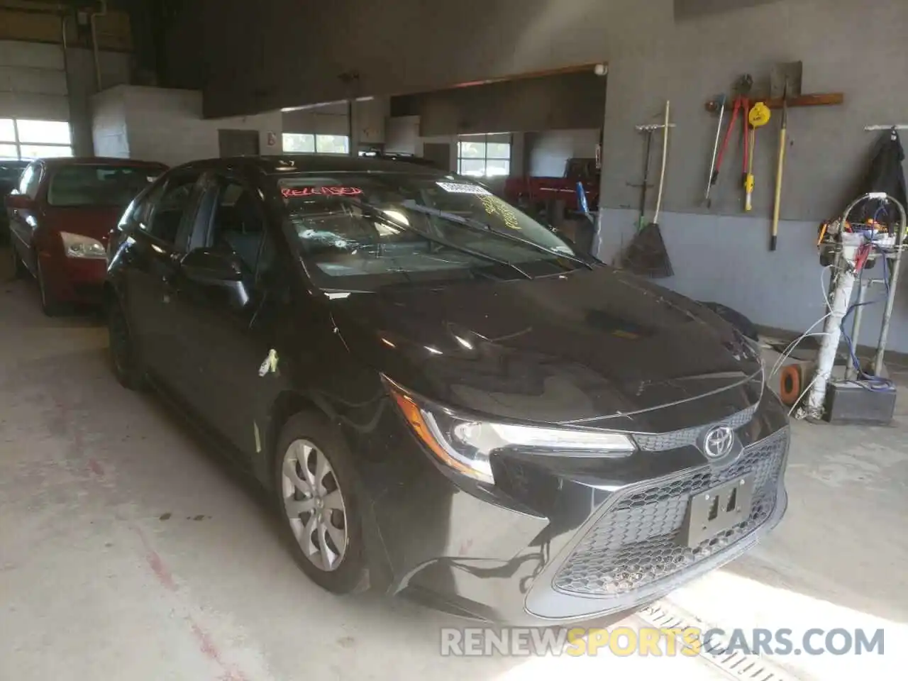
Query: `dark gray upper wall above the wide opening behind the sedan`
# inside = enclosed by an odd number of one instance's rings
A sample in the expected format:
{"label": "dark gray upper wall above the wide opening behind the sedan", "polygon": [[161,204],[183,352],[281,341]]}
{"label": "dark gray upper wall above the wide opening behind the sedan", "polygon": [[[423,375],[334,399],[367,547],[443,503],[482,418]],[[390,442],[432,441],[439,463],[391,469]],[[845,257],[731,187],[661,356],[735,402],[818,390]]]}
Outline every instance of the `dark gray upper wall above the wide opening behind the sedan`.
{"label": "dark gray upper wall above the wide opening behind the sedan", "polygon": [[[655,4],[655,3],[654,3]],[[658,0],[670,10],[671,0]],[[491,77],[596,63],[612,35],[646,35],[637,0],[207,0],[205,112],[243,114],[345,99],[431,92]],[[632,19],[627,21],[627,17]],[[416,28],[414,28],[416,27]],[[432,28],[434,27],[434,29]]]}

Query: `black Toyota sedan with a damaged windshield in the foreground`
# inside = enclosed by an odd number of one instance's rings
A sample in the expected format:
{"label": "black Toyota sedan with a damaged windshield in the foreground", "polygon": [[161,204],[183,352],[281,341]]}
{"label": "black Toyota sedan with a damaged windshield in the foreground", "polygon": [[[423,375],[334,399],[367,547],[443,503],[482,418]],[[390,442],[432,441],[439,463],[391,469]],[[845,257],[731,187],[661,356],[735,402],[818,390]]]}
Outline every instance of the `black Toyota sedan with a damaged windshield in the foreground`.
{"label": "black Toyota sedan with a damaged windshield in the foreground", "polygon": [[752,343],[463,177],[190,163],[108,259],[118,380],[244,462],[333,592],[620,617],[785,513],[787,418]]}

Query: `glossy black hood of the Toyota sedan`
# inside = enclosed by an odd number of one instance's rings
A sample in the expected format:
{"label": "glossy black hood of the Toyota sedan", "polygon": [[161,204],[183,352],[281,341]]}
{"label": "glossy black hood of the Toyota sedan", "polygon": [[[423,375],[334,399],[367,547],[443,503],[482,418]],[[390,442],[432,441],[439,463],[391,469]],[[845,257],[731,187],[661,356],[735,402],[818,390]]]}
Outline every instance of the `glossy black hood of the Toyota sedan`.
{"label": "glossy black hood of the Toyota sedan", "polygon": [[[753,383],[761,370],[755,350],[713,312],[608,267],[351,293],[331,309],[350,351],[391,380],[507,419],[630,415]],[[736,403],[726,410],[755,401],[730,392]]]}

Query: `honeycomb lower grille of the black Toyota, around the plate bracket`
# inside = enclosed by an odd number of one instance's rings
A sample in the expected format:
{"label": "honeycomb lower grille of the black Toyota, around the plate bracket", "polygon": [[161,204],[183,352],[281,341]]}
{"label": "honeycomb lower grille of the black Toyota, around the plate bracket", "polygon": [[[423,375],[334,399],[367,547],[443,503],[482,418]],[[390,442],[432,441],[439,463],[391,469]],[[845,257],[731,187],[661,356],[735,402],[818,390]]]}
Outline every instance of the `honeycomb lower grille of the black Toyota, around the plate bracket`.
{"label": "honeycomb lower grille of the black Toyota, around the plate bracket", "polygon": [[[620,596],[670,577],[744,538],[772,515],[787,443],[788,429],[782,429],[745,449],[726,469],[704,467],[619,499],[558,570],[554,586],[582,596]],[[748,474],[755,477],[748,518],[695,548],[679,543],[690,497]]]}

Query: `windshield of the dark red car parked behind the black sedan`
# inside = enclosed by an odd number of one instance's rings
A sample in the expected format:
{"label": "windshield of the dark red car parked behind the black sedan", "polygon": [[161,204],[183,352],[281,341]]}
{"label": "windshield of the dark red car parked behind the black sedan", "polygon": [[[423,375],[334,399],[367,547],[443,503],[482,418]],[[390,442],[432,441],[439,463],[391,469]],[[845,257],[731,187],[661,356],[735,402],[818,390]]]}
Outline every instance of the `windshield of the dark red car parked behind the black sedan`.
{"label": "windshield of the dark red car parked behind the black sedan", "polygon": [[52,206],[126,206],[163,170],[148,166],[79,164],[56,170],[47,188]]}

